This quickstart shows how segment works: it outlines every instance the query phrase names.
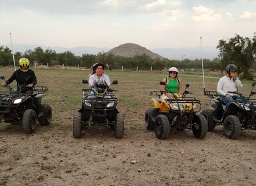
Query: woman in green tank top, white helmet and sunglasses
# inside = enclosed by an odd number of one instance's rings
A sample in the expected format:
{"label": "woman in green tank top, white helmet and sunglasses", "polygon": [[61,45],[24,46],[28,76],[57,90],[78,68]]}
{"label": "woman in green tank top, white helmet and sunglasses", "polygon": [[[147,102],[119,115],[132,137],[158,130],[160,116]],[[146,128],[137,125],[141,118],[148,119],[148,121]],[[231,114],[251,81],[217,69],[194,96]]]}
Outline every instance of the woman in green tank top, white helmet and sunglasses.
{"label": "woman in green tank top, white helmet and sunglasses", "polygon": [[[163,91],[168,90],[169,92],[172,92],[174,94],[181,94],[181,81],[180,78],[177,77],[178,75],[178,69],[176,67],[171,67],[168,70],[169,76],[165,77],[163,79],[164,82],[166,82],[166,85],[162,85],[161,88]],[[172,98],[172,94],[169,92],[165,92],[162,95],[162,99],[168,99]]]}

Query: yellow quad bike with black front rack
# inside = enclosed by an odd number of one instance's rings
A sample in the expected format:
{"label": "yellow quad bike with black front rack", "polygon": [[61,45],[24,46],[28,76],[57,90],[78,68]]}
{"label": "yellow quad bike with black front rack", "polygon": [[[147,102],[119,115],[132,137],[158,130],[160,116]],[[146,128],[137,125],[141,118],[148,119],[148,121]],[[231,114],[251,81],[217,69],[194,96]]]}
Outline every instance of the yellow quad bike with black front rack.
{"label": "yellow quad bike with black front rack", "polygon": [[[165,85],[165,82],[160,82]],[[186,88],[190,85],[186,84]],[[172,129],[193,131],[195,138],[203,139],[207,135],[207,121],[201,115],[196,113],[201,110],[201,103],[195,98],[186,97],[191,94],[186,90],[182,95],[176,95],[172,92],[173,98],[161,100],[162,94],[167,91],[151,91],[150,95],[158,96],[152,98],[154,108],[148,108],[145,114],[146,129],[154,130],[156,137],[166,139]]]}

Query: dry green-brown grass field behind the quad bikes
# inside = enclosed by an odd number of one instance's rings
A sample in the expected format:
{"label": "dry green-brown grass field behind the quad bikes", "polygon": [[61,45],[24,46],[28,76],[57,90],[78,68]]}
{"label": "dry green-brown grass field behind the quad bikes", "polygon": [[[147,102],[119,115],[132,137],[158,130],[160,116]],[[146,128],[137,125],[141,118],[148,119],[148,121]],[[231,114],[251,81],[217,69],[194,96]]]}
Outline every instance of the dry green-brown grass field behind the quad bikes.
{"label": "dry green-brown grass field behind the quad bikes", "polygon": [[[62,129],[68,129],[72,123],[72,116],[81,106],[82,88],[87,88],[87,84],[82,84],[82,79],[87,78],[90,70],[66,70],[66,69],[42,69],[32,68],[37,75],[37,86],[48,86],[47,96],[43,102],[50,104],[53,109],[53,124]],[[13,73],[13,68],[0,68],[0,74],[9,78]],[[118,80],[117,85],[112,89],[116,90],[118,98],[118,110],[125,115],[126,127],[132,129],[144,129],[144,112],[146,108],[153,106],[150,90],[160,90],[160,80],[167,76],[167,72],[132,72],[120,70],[105,70],[110,76],[110,80]],[[199,75],[197,75],[199,74]],[[182,83],[182,90],[185,85],[190,84],[188,89],[201,100],[202,108],[209,108],[210,102],[207,96],[203,95],[203,78],[201,72],[190,71],[179,74]],[[216,90],[217,81],[223,76],[218,73],[205,71],[206,90]],[[251,82],[243,81],[244,88],[239,92],[244,95],[249,94]],[[16,82],[11,86],[15,87]],[[5,88],[1,87],[1,90]],[[139,123],[138,123],[139,122]]]}

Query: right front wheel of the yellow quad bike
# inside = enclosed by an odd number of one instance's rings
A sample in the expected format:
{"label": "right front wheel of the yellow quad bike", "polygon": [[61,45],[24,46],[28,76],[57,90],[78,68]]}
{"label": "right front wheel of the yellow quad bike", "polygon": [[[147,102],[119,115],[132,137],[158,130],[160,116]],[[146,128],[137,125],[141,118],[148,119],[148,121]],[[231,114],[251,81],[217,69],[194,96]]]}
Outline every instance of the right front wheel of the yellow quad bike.
{"label": "right front wheel of the yellow quad bike", "polygon": [[207,121],[204,116],[197,115],[193,118],[193,136],[203,139],[207,135]]}

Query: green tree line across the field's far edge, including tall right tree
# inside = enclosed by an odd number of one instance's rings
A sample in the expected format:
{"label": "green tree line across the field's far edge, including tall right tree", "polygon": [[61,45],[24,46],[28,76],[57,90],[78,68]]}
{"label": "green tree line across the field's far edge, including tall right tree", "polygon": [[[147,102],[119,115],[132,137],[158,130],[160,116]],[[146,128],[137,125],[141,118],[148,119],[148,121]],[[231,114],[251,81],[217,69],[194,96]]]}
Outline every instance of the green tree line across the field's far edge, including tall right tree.
{"label": "green tree line across the field's far edge, including tall right tree", "polygon": [[[256,58],[256,36],[253,39],[248,37],[240,37],[235,35],[234,38],[228,41],[220,40],[219,45],[219,57],[214,60],[203,59],[203,68],[211,71],[225,70],[227,64],[237,64],[239,72],[244,72],[243,77],[249,79],[249,69],[256,68],[253,65]],[[34,50],[26,50],[24,54],[16,52],[15,61],[19,61],[19,58],[27,57],[31,62],[37,62],[39,65],[63,65],[64,66],[81,66],[85,68],[91,68],[91,66],[100,62],[106,65],[106,69],[124,69],[132,71],[142,70],[164,70],[171,66],[176,66],[180,69],[195,69],[201,68],[201,59],[190,60],[185,58],[184,60],[169,60],[168,58],[151,58],[146,54],[136,55],[132,57],[114,56],[113,53],[99,52],[94,54],[82,54],[82,56],[75,56],[72,52],[66,51],[57,53],[55,50],[47,49],[43,50],[41,47],[37,47]],[[11,50],[6,46],[0,46],[0,66],[13,65],[13,57]]]}

